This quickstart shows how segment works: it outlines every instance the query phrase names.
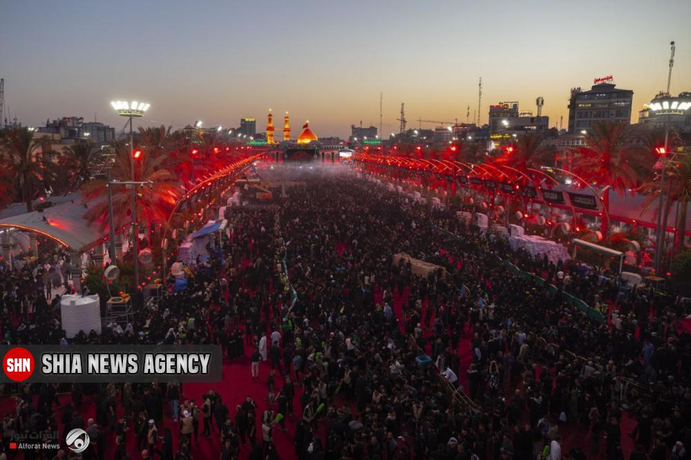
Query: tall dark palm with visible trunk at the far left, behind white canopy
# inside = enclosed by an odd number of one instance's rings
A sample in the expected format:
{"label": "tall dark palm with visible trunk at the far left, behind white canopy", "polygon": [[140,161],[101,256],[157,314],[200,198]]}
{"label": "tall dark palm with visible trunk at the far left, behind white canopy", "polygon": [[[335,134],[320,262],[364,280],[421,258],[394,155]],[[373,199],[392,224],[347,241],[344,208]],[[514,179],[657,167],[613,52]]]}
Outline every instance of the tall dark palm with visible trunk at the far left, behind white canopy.
{"label": "tall dark palm with visible trunk at the far left, behind white canopy", "polygon": [[33,211],[32,201],[44,195],[57,178],[58,164],[44,151],[46,142],[34,139],[28,128],[17,127],[0,131],[2,167],[19,182],[21,201],[26,211]]}

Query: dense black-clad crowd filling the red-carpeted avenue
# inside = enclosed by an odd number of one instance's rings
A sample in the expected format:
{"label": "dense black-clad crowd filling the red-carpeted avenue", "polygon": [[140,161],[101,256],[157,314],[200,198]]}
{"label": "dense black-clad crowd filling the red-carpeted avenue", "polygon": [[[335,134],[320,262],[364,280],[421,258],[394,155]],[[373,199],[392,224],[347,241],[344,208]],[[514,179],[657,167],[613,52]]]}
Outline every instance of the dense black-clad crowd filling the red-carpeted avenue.
{"label": "dense black-clad crowd filling the red-carpeted avenue", "polygon": [[[218,344],[265,392],[194,401],[193,384],[75,384],[61,400],[55,385],[24,385],[4,454],[17,433],[84,428],[86,459],[191,459],[200,443],[221,460],[686,458],[691,341],[677,298],[512,252],[453,209],[353,173],[272,174],[305,184],[230,211],[229,237],[184,291],[170,278],[132,324],[68,341]],[[415,260],[436,269],[414,274]],[[3,283],[5,343],[67,342],[45,296],[30,314],[12,307],[36,282],[27,269]],[[607,320],[564,293],[607,305]]]}

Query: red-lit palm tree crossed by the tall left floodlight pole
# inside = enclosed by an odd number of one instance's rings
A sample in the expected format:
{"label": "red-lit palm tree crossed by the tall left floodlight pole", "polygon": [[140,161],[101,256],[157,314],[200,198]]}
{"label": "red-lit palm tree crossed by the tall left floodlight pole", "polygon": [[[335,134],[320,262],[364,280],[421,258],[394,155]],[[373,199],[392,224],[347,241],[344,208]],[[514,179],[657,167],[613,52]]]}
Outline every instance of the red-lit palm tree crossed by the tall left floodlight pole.
{"label": "red-lit palm tree crossed by the tall left floodlight pole", "polygon": [[[137,220],[145,224],[151,236],[155,223],[166,222],[180,195],[176,176],[164,166],[167,155],[151,155],[149,148],[141,148],[143,153],[135,160],[135,181],[151,181],[149,187],[140,186],[136,195]],[[155,151],[155,147],[152,148]],[[120,144],[116,147],[115,162],[111,169],[111,180],[129,181],[130,153],[129,147]],[[102,230],[108,225],[108,189],[104,180],[92,180],[82,188],[84,198],[96,204],[86,212],[84,217],[89,222],[100,222]],[[131,189],[124,186],[113,186],[113,224],[121,229],[131,220]]]}

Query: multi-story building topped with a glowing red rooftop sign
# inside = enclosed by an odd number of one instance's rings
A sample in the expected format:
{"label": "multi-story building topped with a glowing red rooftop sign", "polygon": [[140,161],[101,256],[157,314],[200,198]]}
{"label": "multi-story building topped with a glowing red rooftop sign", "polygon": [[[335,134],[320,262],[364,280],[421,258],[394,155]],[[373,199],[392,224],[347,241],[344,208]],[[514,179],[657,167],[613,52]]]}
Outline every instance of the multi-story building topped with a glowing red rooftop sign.
{"label": "multi-story building topped with a glowing red rooftop sign", "polygon": [[596,79],[590,90],[571,89],[569,133],[590,131],[594,122],[631,122],[632,90],[616,88],[612,77]]}

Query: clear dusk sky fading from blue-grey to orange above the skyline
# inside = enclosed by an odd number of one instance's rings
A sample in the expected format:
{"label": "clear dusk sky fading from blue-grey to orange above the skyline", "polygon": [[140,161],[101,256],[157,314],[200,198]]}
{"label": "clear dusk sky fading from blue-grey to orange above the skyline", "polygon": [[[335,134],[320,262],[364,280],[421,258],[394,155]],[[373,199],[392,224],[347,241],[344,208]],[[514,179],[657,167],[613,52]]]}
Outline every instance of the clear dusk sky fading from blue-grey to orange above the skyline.
{"label": "clear dusk sky fading from blue-grey to orange above the skyline", "polygon": [[[141,124],[238,126],[268,108],[320,136],[350,124],[398,131],[459,122],[518,101],[558,126],[574,86],[613,75],[634,90],[634,116],[667,81],[691,91],[691,1],[4,1],[0,77],[25,125],[83,116],[115,126],[109,102],[151,103]],[[280,118],[280,117],[279,117]],[[282,121],[282,120],[279,120]],[[423,124],[433,128],[433,124]]]}

